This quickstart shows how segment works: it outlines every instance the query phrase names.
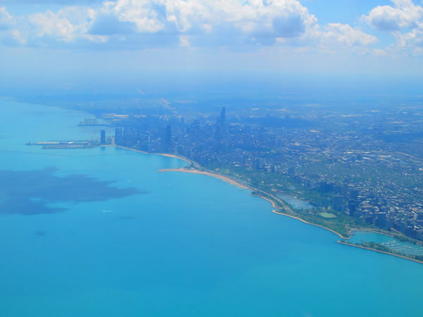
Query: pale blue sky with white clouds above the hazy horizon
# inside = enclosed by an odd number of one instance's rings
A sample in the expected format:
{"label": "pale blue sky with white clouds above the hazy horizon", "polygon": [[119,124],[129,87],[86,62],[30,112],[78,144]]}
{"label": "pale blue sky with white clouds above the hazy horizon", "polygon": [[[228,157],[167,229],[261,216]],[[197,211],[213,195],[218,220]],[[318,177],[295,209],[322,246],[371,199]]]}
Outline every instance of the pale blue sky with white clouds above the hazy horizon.
{"label": "pale blue sky with white clouds above the hazy horizon", "polygon": [[419,76],[420,0],[0,0],[0,82]]}

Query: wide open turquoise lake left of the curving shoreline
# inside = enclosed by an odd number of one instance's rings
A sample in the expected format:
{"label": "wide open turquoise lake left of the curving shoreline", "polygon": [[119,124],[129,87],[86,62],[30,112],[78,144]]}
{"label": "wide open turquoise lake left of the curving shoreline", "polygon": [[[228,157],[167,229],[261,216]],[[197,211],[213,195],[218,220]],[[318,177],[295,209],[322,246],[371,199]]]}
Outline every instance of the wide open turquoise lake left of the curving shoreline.
{"label": "wide open turquoise lake left of the curving shoreline", "polygon": [[336,243],[178,159],[0,101],[0,316],[422,316],[423,266]]}

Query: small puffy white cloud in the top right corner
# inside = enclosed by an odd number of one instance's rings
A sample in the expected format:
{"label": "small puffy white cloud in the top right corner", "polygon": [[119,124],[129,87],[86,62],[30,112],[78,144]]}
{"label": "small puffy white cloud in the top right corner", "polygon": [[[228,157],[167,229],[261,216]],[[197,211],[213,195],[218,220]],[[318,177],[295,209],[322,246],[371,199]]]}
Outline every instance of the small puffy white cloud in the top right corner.
{"label": "small puffy white cloud in the top right corner", "polygon": [[415,27],[423,16],[422,6],[412,0],[392,0],[393,6],[376,6],[362,20],[383,31],[396,31]]}

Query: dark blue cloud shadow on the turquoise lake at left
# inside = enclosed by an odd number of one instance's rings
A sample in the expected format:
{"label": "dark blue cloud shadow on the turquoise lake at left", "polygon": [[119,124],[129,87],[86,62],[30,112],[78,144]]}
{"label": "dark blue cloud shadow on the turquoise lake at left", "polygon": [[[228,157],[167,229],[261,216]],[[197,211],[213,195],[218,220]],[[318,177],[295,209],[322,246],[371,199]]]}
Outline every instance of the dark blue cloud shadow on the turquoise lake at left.
{"label": "dark blue cloud shadow on the turquoise lake at left", "polygon": [[111,187],[114,182],[87,175],[58,176],[56,168],[44,170],[0,170],[0,213],[36,215],[58,213],[66,208],[49,204],[105,201],[147,194],[134,187]]}

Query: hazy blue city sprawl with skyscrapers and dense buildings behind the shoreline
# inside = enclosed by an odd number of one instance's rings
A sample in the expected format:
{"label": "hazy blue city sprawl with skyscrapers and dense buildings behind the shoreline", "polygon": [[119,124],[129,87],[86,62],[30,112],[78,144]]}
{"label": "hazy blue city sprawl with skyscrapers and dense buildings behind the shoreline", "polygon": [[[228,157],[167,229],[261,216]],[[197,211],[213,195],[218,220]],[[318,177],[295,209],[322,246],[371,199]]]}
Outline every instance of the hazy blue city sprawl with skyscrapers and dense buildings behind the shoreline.
{"label": "hazy blue city sprawl with skyscrapers and dense buildings behind the shoreline", "polygon": [[410,144],[419,142],[415,130],[421,127],[409,120],[415,113],[364,114],[228,120],[223,107],[220,116],[189,122],[180,115],[125,116],[114,121],[115,142],[176,153],[264,191],[304,199],[315,210],[348,214],[423,240],[423,166],[420,150]]}

